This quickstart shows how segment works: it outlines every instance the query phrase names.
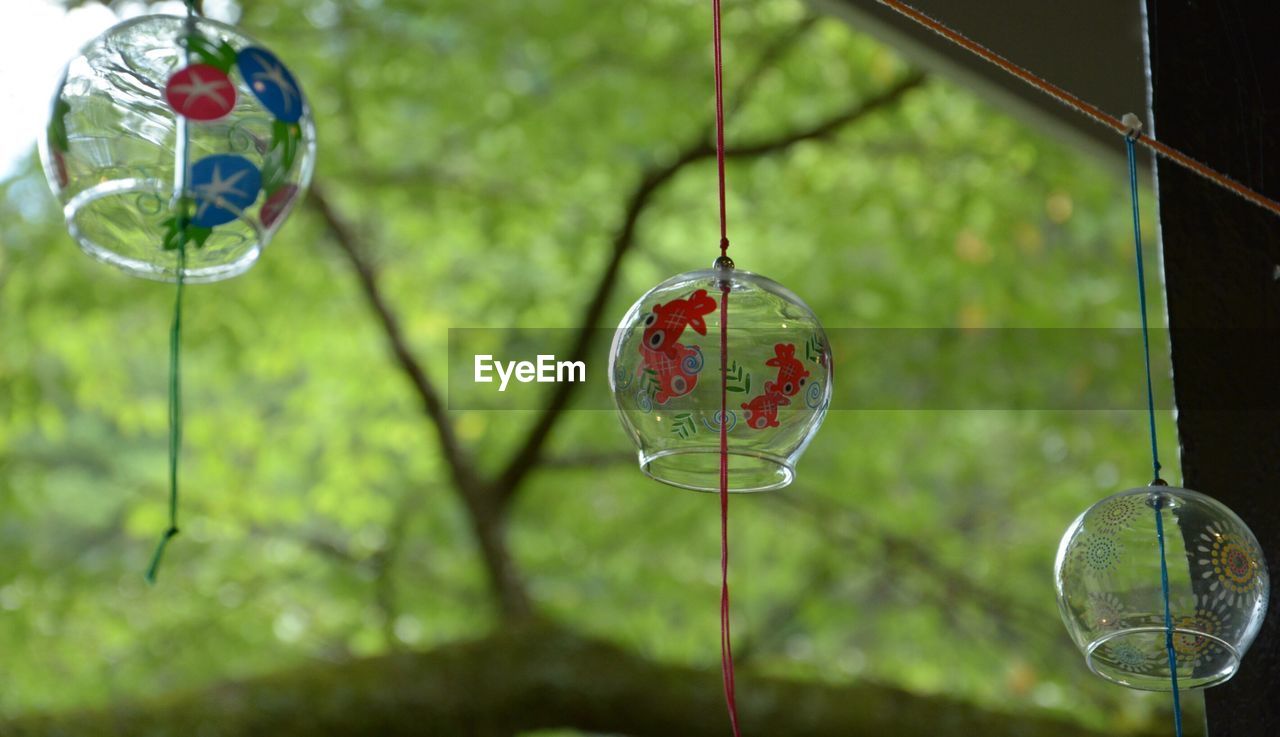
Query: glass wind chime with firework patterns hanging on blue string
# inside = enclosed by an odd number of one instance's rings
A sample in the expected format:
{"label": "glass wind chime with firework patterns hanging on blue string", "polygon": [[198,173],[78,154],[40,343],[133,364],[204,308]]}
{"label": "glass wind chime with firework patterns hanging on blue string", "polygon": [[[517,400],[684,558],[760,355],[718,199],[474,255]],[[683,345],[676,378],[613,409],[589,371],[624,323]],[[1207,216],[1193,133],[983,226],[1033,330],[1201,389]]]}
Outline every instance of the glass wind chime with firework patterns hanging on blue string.
{"label": "glass wind chime with firework patterns hanging on blue string", "polygon": [[1155,477],[1071,523],[1055,583],[1062,621],[1089,669],[1130,688],[1171,691],[1181,737],[1179,690],[1213,686],[1236,672],[1266,615],[1270,580],[1257,539],[1234,512],[1160,477],[1134,156],[1142,125],[1133,115],[1124,122]]}

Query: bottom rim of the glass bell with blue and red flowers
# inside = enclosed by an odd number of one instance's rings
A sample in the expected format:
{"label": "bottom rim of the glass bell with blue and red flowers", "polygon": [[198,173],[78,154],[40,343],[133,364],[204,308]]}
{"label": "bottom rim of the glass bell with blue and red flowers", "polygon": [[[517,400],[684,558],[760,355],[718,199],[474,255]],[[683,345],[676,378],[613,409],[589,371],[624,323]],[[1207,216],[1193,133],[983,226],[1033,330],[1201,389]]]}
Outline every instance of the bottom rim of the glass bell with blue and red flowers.
{"label": "bottom rim of the glass bell with blue and red flowers", "polygon": [[[160,198],[163,207],[165,198],[173,197],[173,183],[145,178],[116,179],[114,182],[104,182],[95,187],[90,187],[83,192],[78,192],[63,207],[63,218],[67,221],[67,230],[70,233],[72,239],[76,241],[76,244],[79,246],[81,251],[84,251],[104,264],[109,264],[127,274],[141,276],[143,279],[151,279],[155,281],[177,281],[177,269],[157,266],[151,261],[124,256],[119,251],[108,248],[106,246],[102,246],[101,243],[87,237],[77,224],[77,214],[90,203],[104,197],[132,193],[155,194]],[[211,281],[221,281],[223,279],[230,279],[232,276],[238,276],[239,274],[248,271],[248,269],[257,262],[259,256],[262,255],[264,239],[268,238],[268,232],[264,232],[255,220],[246,218],[243,214],[237,215],[237,219],[248,225],[248,228],[253,232],[253,246],[248,248],[243,256],[230,264],[183,269],[184,283],[207,284]]]}

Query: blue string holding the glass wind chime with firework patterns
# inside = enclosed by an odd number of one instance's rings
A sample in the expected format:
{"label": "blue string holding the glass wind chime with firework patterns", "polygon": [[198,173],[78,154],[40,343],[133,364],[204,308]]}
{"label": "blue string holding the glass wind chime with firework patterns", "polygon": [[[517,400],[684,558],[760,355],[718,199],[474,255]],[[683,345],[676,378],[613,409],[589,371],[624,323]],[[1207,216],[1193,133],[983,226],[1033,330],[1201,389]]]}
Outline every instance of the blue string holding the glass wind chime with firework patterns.
{"label": "blue string holding the glass wind chime with firework patterns", "polygon": [[[1142,124],[1137,118],[1125,115],[1129,132],[1124,137],[1125,151],[1129,155],[1129,194],[1133,200],[1133,247],[1138,262],[1138,306],[1142,310],[1142,353],[1147,368],[1147,421],[1151,427],[1151,468],[1152,486],[1164,486],[1160,477],[1160,448],[1156,443],[1156,399],[1151,381],[1151,330],[1147,325],[1147,274],[1142,260],[1142,225],[1138,214],[1138,159],[1134,155],[1134,142],[1138,139]],[[1169,606],[1169,563],[1165,560],[1165,505],[1164,495],[1156,494],[1152,503],[1156,508],[1156,543],[1160,548],[1160,595],[1165,605],[1165,650],[1169,654],[1169,685],[1174,692],[1174,734],[1183,737],[1183,705],[1178,692],[1178,653],[1174,650],[1174,615]]]}

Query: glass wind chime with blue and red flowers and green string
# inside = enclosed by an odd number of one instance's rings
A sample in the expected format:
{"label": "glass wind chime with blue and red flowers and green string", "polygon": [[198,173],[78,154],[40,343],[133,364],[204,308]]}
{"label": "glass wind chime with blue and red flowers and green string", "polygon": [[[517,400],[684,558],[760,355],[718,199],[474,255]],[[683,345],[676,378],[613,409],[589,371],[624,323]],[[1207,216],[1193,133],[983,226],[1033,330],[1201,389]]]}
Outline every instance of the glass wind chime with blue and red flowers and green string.
{"label": "glass wind chime with blue and red flowers and green string", "polygon": [[170,331],[169,527],[178,534],[182,289],[247,270],[311,179],[315,125],[293,74],[239,31],[146,15],[90,41],[54,95],[45,175],[79,247],[177,283]]}

